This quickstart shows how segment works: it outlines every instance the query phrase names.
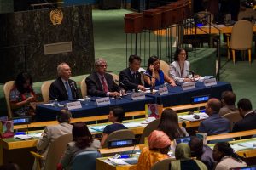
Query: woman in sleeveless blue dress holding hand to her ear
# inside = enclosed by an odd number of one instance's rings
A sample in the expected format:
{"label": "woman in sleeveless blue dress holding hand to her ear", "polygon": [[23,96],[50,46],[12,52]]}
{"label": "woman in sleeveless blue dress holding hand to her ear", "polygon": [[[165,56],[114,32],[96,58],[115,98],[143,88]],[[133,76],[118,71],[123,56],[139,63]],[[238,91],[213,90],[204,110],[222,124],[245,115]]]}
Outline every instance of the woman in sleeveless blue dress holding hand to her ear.
{"label": "woman in sleeveless blue dress holding hand to her ear", "polygon": [[175,81],[160,70],[160,60],[156,56],[149,57],[146,74],[151,76],[144,76],[146,87],[160,86],[165,82],[170,83],[171,86],[176,86]]}

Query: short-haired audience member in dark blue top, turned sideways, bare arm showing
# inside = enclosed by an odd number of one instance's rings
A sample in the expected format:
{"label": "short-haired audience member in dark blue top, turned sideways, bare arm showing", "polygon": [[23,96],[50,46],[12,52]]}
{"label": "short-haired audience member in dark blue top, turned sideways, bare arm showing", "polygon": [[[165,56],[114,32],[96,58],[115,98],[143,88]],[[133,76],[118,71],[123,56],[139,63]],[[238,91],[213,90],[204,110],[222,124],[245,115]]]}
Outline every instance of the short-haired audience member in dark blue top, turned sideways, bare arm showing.
{"label": "short-haired audience member in dark blue top, turned sideways, bare arm showing", "polygon": [[109,114],[108,114],[108,121],[112,122],[113,124],[108,125],[104,128],[102,133],[102,141],[101,144],[104,145],[106,139],[108,139],[108,135],[110,133],[113,133],[117,130],[127,129],[122,122],[125,118],[125,111],[123,108],[116,106],[113,108],[110,108]]}

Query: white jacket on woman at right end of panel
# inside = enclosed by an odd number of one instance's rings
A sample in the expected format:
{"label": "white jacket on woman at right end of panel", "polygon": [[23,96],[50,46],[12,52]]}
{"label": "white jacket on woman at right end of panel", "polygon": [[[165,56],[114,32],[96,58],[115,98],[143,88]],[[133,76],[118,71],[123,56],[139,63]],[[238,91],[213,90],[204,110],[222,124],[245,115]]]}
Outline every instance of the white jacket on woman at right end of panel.
{"label": "white jacket on woman at right end of panel", "polygon": [[191,75],[189,75],[189,72],[187,70],[189,70],[189,61],[185,61],[184,62],[184,67],[183,67],[183,76],[182,76],[182,72],[180,70],[179,64],[177,61],[173,61],[170,65],[170,77],[173,78],[173,80],[175,80],[175,82],[183,82],[184,78],[189,78],[191,77]]}

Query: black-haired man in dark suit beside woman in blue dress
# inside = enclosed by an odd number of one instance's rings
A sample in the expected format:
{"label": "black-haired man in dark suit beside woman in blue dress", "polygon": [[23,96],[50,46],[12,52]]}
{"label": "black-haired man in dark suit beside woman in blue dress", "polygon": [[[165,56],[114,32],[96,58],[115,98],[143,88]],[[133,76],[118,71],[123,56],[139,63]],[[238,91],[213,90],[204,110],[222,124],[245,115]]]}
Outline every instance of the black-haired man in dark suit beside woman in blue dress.
{"label": "black-haired man in dark suit beside woman in blue dress", "polygon": [[119,81],[125,85],[125,90],[145,90],[141,79],[141,74],[138,72],[141,66],[142,59],[137,55],[129,57],[129,68],[121,71],[119,74]]}

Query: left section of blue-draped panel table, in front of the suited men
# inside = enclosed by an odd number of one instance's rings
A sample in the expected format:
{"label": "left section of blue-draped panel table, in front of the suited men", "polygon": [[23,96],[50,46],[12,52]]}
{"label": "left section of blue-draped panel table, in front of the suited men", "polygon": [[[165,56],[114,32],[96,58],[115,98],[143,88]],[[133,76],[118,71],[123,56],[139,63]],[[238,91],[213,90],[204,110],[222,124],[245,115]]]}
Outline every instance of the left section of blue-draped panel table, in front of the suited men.
{"label": "left section of blue-draped panel table, in front of the suited men", "polygon": [[[108,115],[109,107],[113,105],[120,105],[124,108],[125,112],[127,111],[142,111],[145,110],[145,104],[153,102],[151,97],[146,97],[146,99],[132,100],[131,95],[124,96],[122,99],[110,99],[110,105],[96,105],[96,98],[90,100],[89,103],[81,101],[82,108],[72,110],[73,118],[78,117],[88,117],[88,116],[101,116]],[[61,105],[65,105],[67,101],[60,102]],[[54,121],[56,120],[56,113],[61,111],[64,107],[54,107],[51,105],[37,105],[36,108],[36,121]]]}

